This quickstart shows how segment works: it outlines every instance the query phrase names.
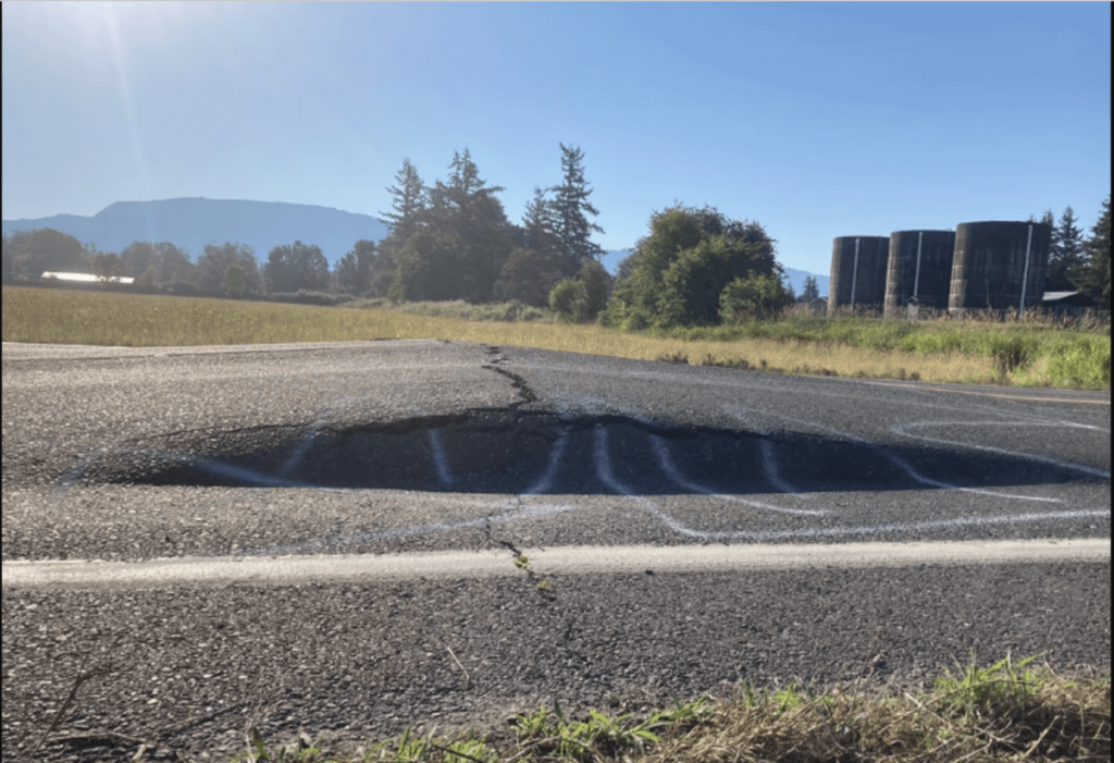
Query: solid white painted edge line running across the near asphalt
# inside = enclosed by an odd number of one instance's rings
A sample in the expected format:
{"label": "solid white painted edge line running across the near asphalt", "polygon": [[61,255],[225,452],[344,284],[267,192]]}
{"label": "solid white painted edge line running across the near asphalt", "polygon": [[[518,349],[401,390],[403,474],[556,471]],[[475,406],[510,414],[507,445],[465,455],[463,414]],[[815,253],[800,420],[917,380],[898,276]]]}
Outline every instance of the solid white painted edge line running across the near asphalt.
{"label": "solid white painted edge line running across the near asphalt", "polygon": [[[563,546],[525,548],[536,575],[723,573],[818,567],[1110,563],[1110,538],[837,545]],[[3,588],[152,588],[297,585],[522,575],[505,550],[280,557],[178,557],[149,561],[4,561]]]}

